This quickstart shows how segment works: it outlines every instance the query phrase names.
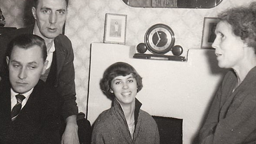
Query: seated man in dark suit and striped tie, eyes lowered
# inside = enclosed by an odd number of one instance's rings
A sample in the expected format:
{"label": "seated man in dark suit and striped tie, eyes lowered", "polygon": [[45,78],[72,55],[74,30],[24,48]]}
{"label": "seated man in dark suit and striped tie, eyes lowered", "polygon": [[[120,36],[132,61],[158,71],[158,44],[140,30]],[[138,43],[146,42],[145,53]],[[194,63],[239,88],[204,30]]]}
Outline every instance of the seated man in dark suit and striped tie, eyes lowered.
{"label": "seated man in dark suit and striped tie, eyes lowered", "polygon": [[0,81],[0,143],[60,143],[62,101],[39,80],[47,67],[47,47],[24,34],[8,45],[9,78]]}

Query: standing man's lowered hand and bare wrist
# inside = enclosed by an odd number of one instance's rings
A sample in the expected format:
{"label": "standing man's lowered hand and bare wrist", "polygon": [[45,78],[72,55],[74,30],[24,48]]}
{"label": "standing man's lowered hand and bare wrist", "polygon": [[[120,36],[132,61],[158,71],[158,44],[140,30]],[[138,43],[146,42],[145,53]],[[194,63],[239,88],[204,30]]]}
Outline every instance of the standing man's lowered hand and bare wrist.
{"label": "standing man's lowered hand and bare wrist", "polygon": [[79,144],[76,115],[69,116],[66,121],[67,125],[61,138],[61,144]]}

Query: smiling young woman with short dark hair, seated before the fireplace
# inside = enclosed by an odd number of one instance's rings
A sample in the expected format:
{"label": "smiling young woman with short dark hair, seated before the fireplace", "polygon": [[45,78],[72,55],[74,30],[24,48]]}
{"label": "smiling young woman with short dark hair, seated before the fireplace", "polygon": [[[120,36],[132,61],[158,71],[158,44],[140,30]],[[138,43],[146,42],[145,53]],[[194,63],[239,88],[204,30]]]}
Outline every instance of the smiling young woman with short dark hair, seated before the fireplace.
{"label": "smiling young woman with short dark hair, seated before the fireplace", "polygon": [[160,143],[155,120],[140,109],[142,103],[136,99],[142,89],[142,77],[131,65],[112,64],[105,70],[100,87],[113,103],[94,123],[92,144]]}

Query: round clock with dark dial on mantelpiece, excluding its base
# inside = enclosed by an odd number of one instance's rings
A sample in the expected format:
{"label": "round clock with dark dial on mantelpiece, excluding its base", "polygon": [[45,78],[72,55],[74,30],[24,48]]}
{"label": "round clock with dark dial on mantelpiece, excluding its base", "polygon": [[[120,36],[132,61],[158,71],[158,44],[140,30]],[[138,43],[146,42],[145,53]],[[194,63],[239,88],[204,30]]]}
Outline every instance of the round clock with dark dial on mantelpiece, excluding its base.
{"label": "round clock with dark dial on mantelpiece, excluding its base", "polygon": [[147,30],[144,41],[153,54],[166,54],[175,44],[175,35],[169,26],[158,23]]}

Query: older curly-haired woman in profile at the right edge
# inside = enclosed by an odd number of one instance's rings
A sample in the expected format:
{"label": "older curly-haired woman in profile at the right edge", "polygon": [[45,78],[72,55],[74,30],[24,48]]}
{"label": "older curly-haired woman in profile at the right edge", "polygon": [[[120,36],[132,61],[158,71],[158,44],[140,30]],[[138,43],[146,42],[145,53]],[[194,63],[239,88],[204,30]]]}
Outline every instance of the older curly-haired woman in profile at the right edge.
{"label": "older curly-haired woman in profile at the right edge", "polygon": [[219,15],[213,42],[220,68],[231,68],[208,117],[200,143],[256,143],[256,3]]}

